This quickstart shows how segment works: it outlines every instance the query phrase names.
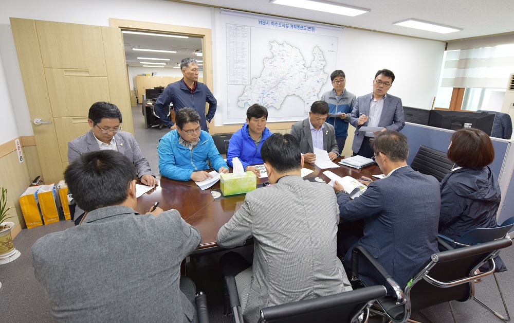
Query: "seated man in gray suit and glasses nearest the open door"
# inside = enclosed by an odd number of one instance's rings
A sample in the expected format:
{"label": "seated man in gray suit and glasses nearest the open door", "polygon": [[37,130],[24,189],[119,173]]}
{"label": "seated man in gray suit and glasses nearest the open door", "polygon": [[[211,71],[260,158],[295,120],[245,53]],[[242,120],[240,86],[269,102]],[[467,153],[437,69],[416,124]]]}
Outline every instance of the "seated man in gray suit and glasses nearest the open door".
{"label": "seated man in gray suit and glasses nearest the open door", "polygon": [[[130,132],[121,130],[121,111],[109,102],[96,102],[89,108],[87,123],[91,130],[68,142],[68,163],[81,154],[97,150],[116,150],[134,163],[141,183],[156,186],[157,180],[150,170],[148,161],[141,154],[136,139]],[[75,208],[72,220],[78,225],[84,211]]]}

